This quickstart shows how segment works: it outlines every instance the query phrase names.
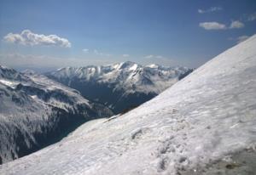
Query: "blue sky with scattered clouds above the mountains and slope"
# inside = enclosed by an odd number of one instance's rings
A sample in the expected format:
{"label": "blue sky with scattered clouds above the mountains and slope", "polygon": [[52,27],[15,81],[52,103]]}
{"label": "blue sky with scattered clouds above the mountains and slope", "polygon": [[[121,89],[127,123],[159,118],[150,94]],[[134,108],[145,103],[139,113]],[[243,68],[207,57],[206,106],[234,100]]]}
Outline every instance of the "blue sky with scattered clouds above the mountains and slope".
{"label": "blue sky with scattered clouds above the mountains and slope", "polygon": [[0,64],[198,67],[255,31],[255,0],[1,0]]}

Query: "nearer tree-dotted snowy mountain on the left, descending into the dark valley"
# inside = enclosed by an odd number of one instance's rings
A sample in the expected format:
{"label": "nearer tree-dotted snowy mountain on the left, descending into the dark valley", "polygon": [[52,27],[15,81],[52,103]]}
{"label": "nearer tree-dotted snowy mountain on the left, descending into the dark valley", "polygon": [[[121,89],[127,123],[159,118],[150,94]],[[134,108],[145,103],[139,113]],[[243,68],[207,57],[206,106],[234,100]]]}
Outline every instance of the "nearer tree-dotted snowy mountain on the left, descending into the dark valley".
{"label": "nearer tree-dotted snowy mountain on the left, descending into the dark valley", "polygon": [[54,143],[84,121],[110,115],[46,76],[0,65],[0,164]]}

